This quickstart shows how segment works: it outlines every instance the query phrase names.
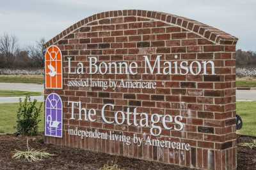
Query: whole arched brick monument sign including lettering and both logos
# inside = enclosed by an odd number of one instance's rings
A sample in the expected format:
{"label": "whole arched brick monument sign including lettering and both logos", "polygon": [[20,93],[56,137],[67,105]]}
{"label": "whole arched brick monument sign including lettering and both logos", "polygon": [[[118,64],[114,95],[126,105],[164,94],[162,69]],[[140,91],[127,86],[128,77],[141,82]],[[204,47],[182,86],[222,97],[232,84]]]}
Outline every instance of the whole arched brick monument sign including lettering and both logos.
{"label": "whole arched brick monument sign including lettering and both logos", "polygon": [[236,169],[236,42],[157,11],[77,22],[45,44],[45,142]]}

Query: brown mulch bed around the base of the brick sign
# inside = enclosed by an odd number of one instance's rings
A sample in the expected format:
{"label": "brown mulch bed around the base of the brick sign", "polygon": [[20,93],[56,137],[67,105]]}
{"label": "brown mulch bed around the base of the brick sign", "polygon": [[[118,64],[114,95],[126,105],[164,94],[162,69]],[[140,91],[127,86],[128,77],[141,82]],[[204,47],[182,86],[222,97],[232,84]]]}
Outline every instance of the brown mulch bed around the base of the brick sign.
{"label": "brown mulch bed around the base of the brick sign", "polygon": [[[238,141],[250,141],[252,138],[239,137]],[[63,148],[54,145],[45,145],[42,137],[31,138],[29,146],[36,150],[45,149],[56,156],[40,162],[31,163],[25,160],[13,160],[15,150],[26,150],[26,138],[13,135],[0,136],[0,169],[99,169],[116,161],[123,169],[188,169],[177,166],[150,162],[127,157],[113,156],[106,153],[94,153],[86,150]],[[244,146],[237,149],[237,169],[256,169],[256,148],[252,150]]]}

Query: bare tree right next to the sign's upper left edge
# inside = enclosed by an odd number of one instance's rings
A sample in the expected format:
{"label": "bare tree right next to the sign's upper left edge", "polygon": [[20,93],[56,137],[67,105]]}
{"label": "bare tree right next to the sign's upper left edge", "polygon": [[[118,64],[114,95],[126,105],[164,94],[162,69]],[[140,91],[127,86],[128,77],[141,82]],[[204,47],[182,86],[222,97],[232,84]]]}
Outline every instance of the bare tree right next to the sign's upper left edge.
{"label": "bare tree right next to the sign's upper left edge", "polygon": [[44,67],[44,44],[45,39],[36,41],[36,45],[28,46],[28,55],[33,60],[34,67]]}

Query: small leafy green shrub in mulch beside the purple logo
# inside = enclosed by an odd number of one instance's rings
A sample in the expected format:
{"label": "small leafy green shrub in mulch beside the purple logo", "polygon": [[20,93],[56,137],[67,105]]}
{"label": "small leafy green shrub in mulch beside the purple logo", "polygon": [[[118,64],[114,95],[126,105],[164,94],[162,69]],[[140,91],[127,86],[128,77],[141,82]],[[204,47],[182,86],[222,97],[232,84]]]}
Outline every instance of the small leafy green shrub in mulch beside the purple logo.
{"label": "small leafy green shrub in mulch beside the purple logo", "polygon": [[17,133],[22,136],[35,136],[38,133],[38,117],[41,113],[42,103],[36,108],[36,100],[31,101],[26,96],[24,102],[20,99],[19,110],[17,111]]}

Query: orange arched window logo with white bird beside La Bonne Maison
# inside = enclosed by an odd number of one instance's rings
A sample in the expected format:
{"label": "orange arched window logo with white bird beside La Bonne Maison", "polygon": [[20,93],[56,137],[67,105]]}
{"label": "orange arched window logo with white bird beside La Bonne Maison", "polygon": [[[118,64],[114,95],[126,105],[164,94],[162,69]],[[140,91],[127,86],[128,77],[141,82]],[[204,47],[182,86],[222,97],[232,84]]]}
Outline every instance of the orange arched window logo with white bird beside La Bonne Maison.
{"label": "orange arched window logo with white bird beside La Bonne Maison", "polygon": [[56,45],[45,52],[45,89],[62,89],[62,54]]}

